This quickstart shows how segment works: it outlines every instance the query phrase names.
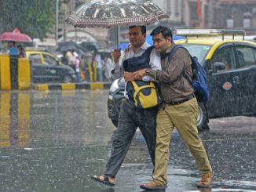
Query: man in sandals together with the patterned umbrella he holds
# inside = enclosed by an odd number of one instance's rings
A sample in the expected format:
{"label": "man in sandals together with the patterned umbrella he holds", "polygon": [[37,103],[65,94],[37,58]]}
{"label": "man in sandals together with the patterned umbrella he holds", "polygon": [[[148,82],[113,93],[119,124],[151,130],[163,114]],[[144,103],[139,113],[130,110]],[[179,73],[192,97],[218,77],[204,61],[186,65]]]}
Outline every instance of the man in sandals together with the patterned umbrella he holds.
{"label": "man in sandals together with the patterned umbrella he holds", "polygon": [[[114,70],[114,74],[121,76],[123,75],[123,61],[133,56],[141,56],[149,46],[145,43],[146,28],[144,25],[153,24],[168,17],[157,5],[148,0],[94,0],[80,5],[68,16],[67,21],[74,27],[109,28],[130,25],[129,39],[131,47],[126,51],[122,62],[120,62],[122,63],[121,66],[116,65]],[[119,45],[119,30],[117,34],[117,45]],[[115,62],[118,62],[120,58],[119,51],[115,51],[114,57]],[[150,64],[152,69],[161,70],[160,56],[154,50],[150,55]],[[126,82],[134,80],[132,73],[126,72],[124,77]],[[152,81],[152,78],[145,76],[142,80]],[[119,113],[118,129],[114,133],[111,157],[108,159],[104,175],[93,176],[94,180],[109,186],[115,185],[115,176],[129,150],[137,127],[141,129],[154,164],[156,110],[156,107],[137,110],[130,105],[127,99],[123,100]]]}

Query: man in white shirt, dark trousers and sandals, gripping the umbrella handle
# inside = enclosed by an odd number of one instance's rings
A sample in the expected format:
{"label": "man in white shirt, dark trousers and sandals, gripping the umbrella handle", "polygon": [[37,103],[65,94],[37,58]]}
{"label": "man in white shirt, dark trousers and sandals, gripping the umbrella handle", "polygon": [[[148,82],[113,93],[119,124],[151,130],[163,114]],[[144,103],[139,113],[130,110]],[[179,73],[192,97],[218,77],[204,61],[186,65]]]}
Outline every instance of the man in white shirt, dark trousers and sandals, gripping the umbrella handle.
{"label": "man in white shirt, dark trousers and sandals, gripping the umbrella handle", "polygon": [[[148,44],[145,42],[146,27],[145,26],[130,26],[129,27],[129,40],[130,47],[126,49],[126,52],[121,59],[121,53],[119,50],[115,50],[113,53],[115,69],[113,74],[115,78],[121,78],[124,75],[126,82],[133,82],[133,72],[123,71],[123,62],[133,56],[141,56],[148,48]],[[152,51],[150,54],[150,65],[154,70],[161,70],[159,53]],[[143,81],[152,81],[151,77],[144,77]],[[114,132],[112,141],[112,153],[104,171],[101,176],[92,176],[93,180],[104,183],[108,186],[115,185],[115,176],[121,167],[124,158],[129,150],[130,143],[137,130],[137,127],[141,130],[142,135],[147,143],[148,152],[152,159],[153,165],[155,165],[155,127],[156,127],[156,113],[157,107],[151,107],[148,109],[138,109],[132,103],[126,92],[126,99],[122,101],[119,113],[118,128]]]}

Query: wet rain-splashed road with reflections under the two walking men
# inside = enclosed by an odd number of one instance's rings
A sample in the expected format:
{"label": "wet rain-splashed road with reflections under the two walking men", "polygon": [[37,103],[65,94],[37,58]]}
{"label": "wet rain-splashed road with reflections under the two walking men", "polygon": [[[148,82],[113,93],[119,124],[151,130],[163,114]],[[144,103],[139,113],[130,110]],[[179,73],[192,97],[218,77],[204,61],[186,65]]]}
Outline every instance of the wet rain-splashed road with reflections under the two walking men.
{"label": "wet rain-splashed road with reflections under the two walking men", "polygon": [[[115,127],[108,91],[0,92],[0,191],[142,191],[152,164],[137,132],[116,186],[90,176],[104,171]],[[166,191],[256,191],[256,118],[210,121],[201,133],[214,168],[213,188],[197,190],[199,171],[177,132]]]}

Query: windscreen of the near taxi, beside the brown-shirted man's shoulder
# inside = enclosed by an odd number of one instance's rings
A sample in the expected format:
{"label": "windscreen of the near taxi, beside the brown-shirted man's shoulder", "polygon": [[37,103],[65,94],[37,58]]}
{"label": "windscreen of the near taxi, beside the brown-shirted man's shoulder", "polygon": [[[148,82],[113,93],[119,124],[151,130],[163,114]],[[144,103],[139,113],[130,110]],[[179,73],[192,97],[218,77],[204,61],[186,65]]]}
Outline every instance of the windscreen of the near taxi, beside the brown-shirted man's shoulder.
{"label": "windscreen of the near taxi, beside the brown-shirted man's shoulder", "polygon": [[203,63],[205,56],[210,49],[210,45],[183,44],[191,56],[196,56],[199,63]]}

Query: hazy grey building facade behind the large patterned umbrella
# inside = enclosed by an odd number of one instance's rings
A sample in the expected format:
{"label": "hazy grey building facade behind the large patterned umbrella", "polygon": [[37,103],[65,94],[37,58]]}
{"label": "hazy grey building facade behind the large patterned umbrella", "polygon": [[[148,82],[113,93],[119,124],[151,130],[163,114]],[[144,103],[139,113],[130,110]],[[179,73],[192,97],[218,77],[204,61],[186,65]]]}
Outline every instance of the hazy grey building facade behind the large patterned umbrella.
{"label": "hazy grey building facade behind the large patterned umbrella", "polygon": [[[65,41],[66,33],[74,27],[64,22],[65,18],[84,2],[90,0],[69,0],[62,5],[60,16],[60,36]],[[170,18],[159,24],[171,28],[243,28],[256,34],[256,0],[152,0]],[[157,24],[148,26],[148,32]],[[102,28],[79,29],[93,34],[98,43],[111,47],[116,42],[116,30]],[[120,41],[127,42],[127,27],[121,27]]]}

